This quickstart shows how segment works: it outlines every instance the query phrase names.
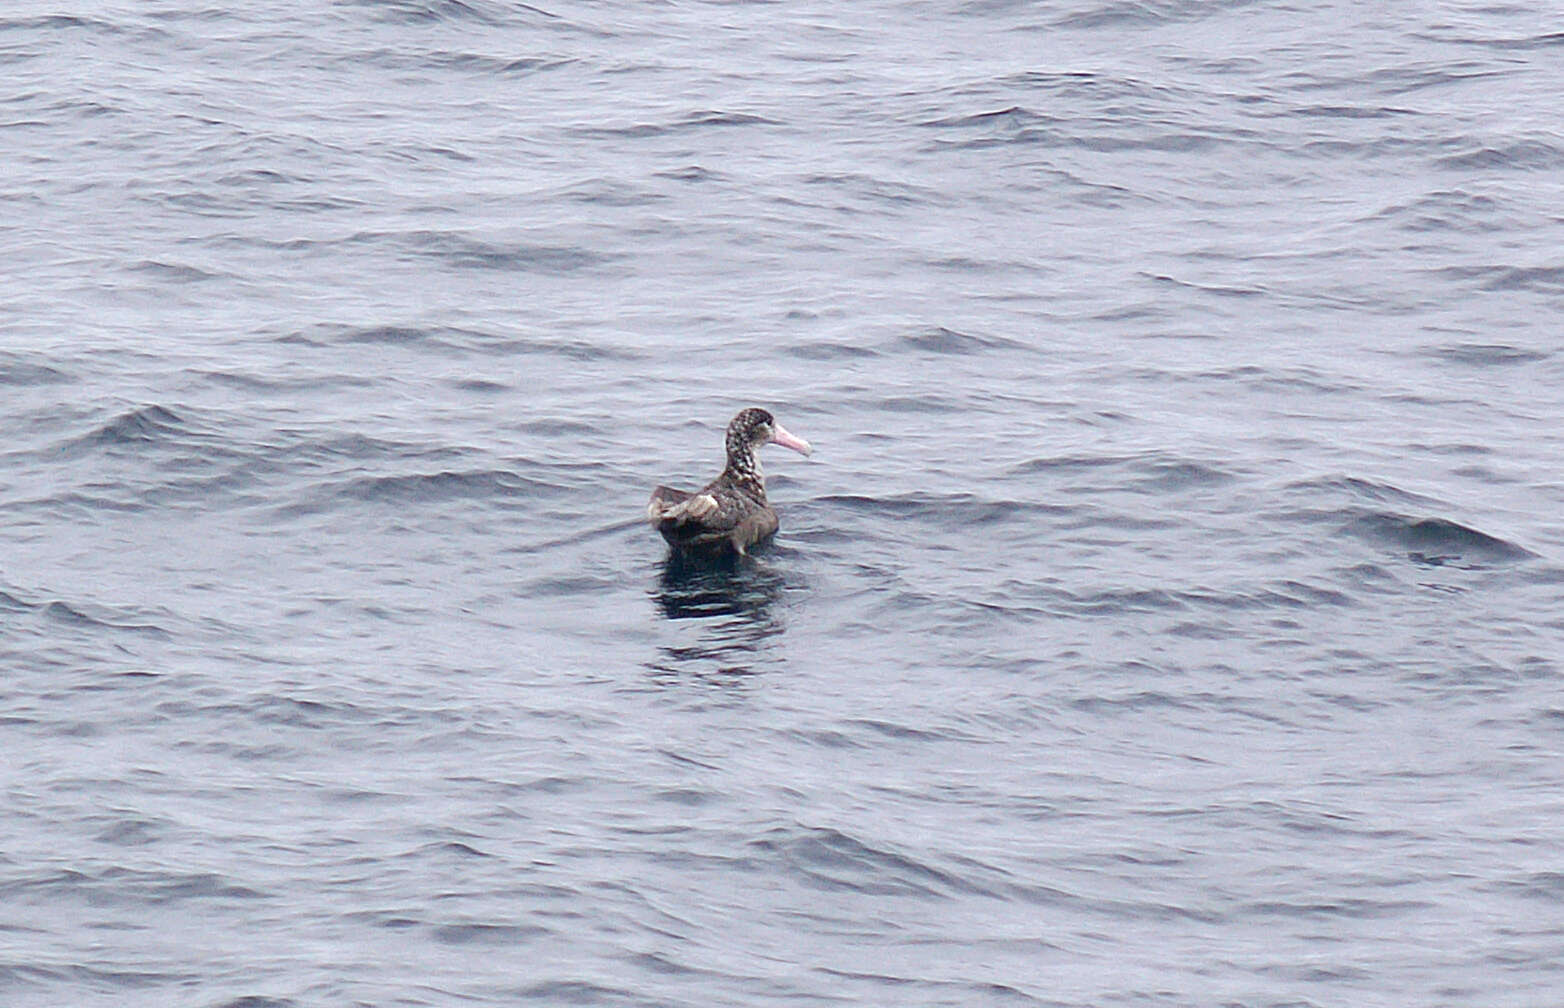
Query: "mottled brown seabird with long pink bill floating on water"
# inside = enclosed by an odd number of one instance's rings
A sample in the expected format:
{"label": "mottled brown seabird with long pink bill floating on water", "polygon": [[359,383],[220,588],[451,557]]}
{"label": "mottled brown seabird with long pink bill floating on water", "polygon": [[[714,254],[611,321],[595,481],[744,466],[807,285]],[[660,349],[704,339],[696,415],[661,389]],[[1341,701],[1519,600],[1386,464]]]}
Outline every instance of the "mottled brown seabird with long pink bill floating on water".
{"label": "mottled brown seabird with long pink bill floating on water", "polygon": [[766,503],[765,472],[755,450],[780,444],[809,455],[809,442],[782,430],[765,409],[743,409],[727,425],[727,466],[694,494],[658,486],[646,519],[674,550],[740,553],[777,530]]}

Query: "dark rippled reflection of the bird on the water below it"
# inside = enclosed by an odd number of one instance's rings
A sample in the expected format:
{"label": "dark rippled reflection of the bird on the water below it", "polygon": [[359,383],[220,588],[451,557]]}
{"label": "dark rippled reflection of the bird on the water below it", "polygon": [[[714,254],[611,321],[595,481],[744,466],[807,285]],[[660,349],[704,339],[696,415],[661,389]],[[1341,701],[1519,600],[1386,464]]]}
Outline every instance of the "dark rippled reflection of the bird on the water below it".
{"label": "dark rippled reflection of the bird on the water below it", "polygon": [[787,577],[763,559],[696,559],[674,553],[651,592],[669,620],[694,620],[693,644],[665,644],[647,667],[662,675],[735,677],[771,661],[773,638],[787,628],[773,613]]}

